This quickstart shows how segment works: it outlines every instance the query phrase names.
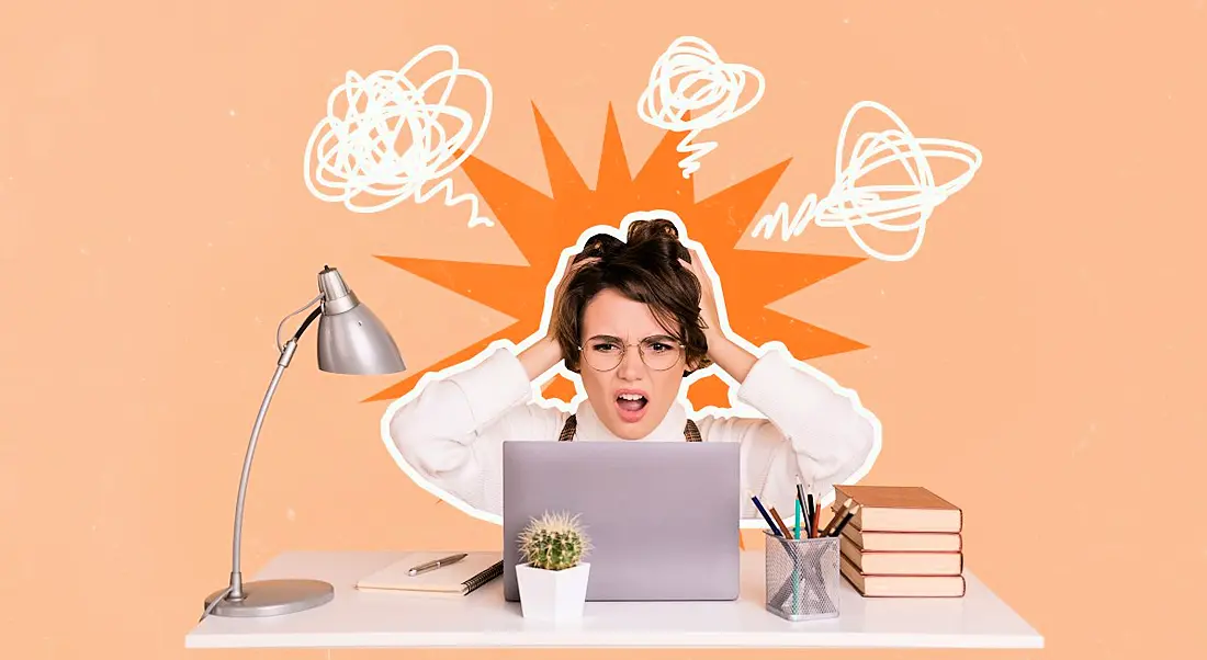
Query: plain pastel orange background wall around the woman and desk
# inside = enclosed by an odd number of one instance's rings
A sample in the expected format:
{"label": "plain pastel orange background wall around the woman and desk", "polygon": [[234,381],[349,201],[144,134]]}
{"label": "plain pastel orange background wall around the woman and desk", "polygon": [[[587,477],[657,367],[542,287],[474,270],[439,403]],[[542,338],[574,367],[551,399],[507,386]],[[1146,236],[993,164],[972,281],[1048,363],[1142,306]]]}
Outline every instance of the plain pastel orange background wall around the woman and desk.
{"label": "plain pastel orange background wall around the woman and desk", "polygon": [[[637,97],[686,34],[768,80],[756,110],[705,135],[721,146],[695,174],[698,197],[788,157],[760,212],[824,193],[842,117],[863,99],[984,152],[919,256],[862,263],[772,306],[870,346],[814,364],[884,422],[868,483],[922,484],[967,510],[970,568],[1046,637],[1010,656],[1207,652],[1207,535],[1189,522],[1207,504],[1203,2],[669,7],[5,4],[2,655],[610,656],[188,654],[183,635],[227,579],[276,323],[314,296],[323,263],[416,369],[508,322],[373,257],[519,263],[506,232],[468,229],[465,206],[358,216],[307,192],[305,141],[344,72],[455,46],[495,90],[476,156],[547,191],[531,104],[588,182],[613,104],[636,167],[661,136]],[[841,230],[809,234],[764,247],[853,253]],[[396,380],[321,374],[308,334],[252,473],[249,576],[292,549],[497,545],[497,528],[435,503],[386,454],[386,403],[362,399]],[[811,653],[839,655],[989,654]]]}

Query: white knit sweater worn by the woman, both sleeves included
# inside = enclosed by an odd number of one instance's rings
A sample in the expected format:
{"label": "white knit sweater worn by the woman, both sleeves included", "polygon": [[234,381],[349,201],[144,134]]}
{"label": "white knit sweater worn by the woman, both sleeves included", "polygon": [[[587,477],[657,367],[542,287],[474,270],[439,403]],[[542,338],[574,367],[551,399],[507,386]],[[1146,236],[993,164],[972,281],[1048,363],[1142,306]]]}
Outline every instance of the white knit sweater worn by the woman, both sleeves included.
{"label": "white knit sweater worn by the woman, both sleeves included", "polygon": [[[740,402],[766,419],[704,415],[695,419],[704,442],[741,444],[742,518],[762,521],[746,496],[783,515],[795,506],[798,475],[815,497],[829,501],[880,446],[880,424],[853,393],[794,368],[769,350],[737,390]],[[841,389],[839,389],[841,390]],[[413,474],[488,519],[502,515],[502,443],[556,440],[568,413],[535,401],[537,389],[519,358],[496,350],[479,364],[426,385],[387,413],[390,439]],[[575,442],[624,442],[585,401],[577,409]],[[647,437],[631,442],[684,442],[688,411],[674,403]]]}

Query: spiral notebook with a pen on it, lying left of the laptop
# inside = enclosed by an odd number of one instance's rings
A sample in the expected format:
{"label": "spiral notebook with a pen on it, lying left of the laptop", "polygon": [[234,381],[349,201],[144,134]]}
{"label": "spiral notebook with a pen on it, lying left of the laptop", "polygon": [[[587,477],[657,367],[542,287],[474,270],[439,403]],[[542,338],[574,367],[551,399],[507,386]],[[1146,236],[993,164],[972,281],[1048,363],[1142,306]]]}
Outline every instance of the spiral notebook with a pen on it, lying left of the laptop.
{"label": "spiral notebook with a pen on it, lying left of the laptop", "polygon": [[502,553],[467,553],[463,560],[435,571],[408,576],[412,567],[455,555],[454,551],[407,553],[385,568],[365,576],[357,589],[468,594],[503,574]]}

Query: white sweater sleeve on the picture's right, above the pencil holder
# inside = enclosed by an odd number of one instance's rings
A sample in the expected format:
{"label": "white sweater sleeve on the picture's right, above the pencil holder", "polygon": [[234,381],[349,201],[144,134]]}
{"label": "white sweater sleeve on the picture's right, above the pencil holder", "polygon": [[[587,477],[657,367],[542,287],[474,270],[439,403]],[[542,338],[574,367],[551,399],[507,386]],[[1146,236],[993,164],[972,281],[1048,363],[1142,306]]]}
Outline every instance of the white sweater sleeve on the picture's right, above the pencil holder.
{"label": "white sweater sleeve on the picture's right, above the pencil holder", "polygon": [[709,442],[741,443],[744,518],[762,519],[746,490],[792,518],[798,475],[815,497],[829,497],[879,442],[880,425],[855,393],[835,392],[777,351],[754,363],[737,399],[766,419],[710,416],[700,433]]}

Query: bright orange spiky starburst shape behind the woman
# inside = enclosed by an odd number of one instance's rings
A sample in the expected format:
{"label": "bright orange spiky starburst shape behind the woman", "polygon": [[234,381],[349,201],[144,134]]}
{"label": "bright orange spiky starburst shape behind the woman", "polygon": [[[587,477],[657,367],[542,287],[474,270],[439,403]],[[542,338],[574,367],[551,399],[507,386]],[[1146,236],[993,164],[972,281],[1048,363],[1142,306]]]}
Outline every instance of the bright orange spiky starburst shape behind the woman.
{"label": "bright orange spiky starburst shape behind the woman", "polygon": [[[667,132],[637,175],[631,176],[616,115],[610,105],[599,177],[593,189],[535,105],[532,112],[552,197],[472,156],[461,165],[529,265],[378,257],[505,313],[515,322],[424,370],[408,374],[368,401],[398,398],[410,391],[425,373],[463,362],[482,352],[491,341],[508,339],[520,344],[541,326],[544,290],[554,275],[561,251],[573,245],[590,227],[616,227],[632,211],[654,209],[676,212],[687,226],[689,238],[707,250],[724,287],[729,325],[750,343],[757,346],[772,340],[782,341],[799,360],[865,347],[766,308],[785,296],[864,261],[862,257],[734,249],[789,160],[696,201],[693,181],[684,179],[678,167],[682,154],[676,151],[676,145],[683,134]],[[543,396],[568,402],[575,396],[575,384],[555,376],[546,384]],[[728,385],[719,378],[704,378],[693,382],[688,398],[696,409],[729,407]]]}

